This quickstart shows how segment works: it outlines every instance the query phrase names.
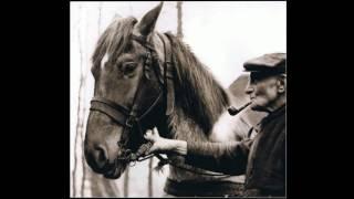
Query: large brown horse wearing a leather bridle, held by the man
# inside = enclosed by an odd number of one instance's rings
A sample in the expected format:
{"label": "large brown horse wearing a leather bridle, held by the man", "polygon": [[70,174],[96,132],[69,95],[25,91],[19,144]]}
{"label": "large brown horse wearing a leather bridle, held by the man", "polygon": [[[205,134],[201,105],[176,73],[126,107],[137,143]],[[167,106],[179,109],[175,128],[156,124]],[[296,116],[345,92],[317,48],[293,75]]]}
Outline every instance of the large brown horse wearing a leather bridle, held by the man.
{"label": "large brown horse wearing a leather bridle, held by the man", "polygon": [[[162,8],[163,2],[140,21],[114,19],[92,56],[94,97],[84,155],[105,178],[122,176],[127,157],[139,151],[146,144],[144,133],[154,126],[163,137],[189,142],[223,142],[235,130],[246,135],[250,128],[233,118],[237,128],[221,129],[229,117],[230,93],[180,39],[155,31]],[[168,158],[184,164],[183,156]],[[232,196],[238,189],[232,177],[170,166],[164,190],[170,196]]]}

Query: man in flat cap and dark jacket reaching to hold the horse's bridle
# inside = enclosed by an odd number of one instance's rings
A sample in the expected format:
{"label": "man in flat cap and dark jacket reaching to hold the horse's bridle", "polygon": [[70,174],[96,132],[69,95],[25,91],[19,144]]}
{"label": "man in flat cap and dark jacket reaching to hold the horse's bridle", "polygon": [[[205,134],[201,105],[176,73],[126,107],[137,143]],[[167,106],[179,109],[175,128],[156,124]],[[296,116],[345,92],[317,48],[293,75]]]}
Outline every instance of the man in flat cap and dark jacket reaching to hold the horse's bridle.
{"label": "man in flat cap and dark jacket reaching to hold the horse's bridle", "polygon": [[246,197],[285,196],[285,104],[284,53],[264,54],[243,64],[250,72],[246,90],[251,108],[268,112],[254,127],[253,139],[229,143],[189,143],[162,138],[156,128],[145,138],[154,143],[149,153],[175,151],[186,164],[230,175],[246,172]]}

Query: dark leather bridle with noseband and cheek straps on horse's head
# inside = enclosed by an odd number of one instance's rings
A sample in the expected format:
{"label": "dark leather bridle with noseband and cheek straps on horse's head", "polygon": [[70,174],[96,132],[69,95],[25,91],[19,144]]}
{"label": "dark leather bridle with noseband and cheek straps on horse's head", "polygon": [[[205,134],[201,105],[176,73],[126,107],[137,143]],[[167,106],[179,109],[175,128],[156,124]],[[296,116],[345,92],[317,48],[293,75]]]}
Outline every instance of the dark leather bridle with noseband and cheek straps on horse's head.
{"label": "dark leather bridle with noseband and cheek straps on horse's head", "polygon": [[[94,96],[91,101],[90,111],[96,111],[103,113],[111,117],[115,123],[124,127],[122,138],[118,142],[119,147],[123,150],[123,155],[121,155],[117,160],[123,161],[135,161],[138,160],[139,157],[144,156],[145,151],[149,148],[150,143],[143,144],[139,149],[134,154],[127,147],[128,139],[126,138],[134,128],[137,128],[139,133],[139,137],[144,140],[144,132],[142,128],[142,121],[148,115],[165,97],[166,100],[166,115],[169,115],[173,105],[174,105],[174,91],[173,91],[173,65],[171,65],[171,51],[169,41],[165,41],[166,39],[158,34],[164,43],[164,55],[165,62],[162,65],[157,52],[152,43],[149,43],[146,38],[132,35],[132,39],[140,43],[146,49],[145,62],[144,62],[144,71],[143,76],[138,83],[137,92],[135,93],[132,108],[128,108],[122,104],[115,103],[107,98],[101,96]],[[157,81],[150,81],[153,75],[156,76]],[[146,90],[146,91],[144,91]],[[154,97],[148,102],[145,111],[143,113],[138,113],[142,108],[142,103],[138,102],[142,96],[144,96],[144,92],[149,91],[148,94],[154,93]],[[145,102],[146,104],[146,102]],[[125,136],[125,137],[124,137]],[[146,159],[146,158],[144,158]]]}

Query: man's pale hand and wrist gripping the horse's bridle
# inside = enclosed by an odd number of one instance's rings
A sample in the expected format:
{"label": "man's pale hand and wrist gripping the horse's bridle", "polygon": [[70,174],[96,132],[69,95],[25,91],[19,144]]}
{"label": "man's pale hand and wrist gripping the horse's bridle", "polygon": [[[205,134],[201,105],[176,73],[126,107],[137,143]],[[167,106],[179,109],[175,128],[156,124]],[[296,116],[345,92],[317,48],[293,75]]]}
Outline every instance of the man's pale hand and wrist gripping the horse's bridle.
{"label": "man's pale hand and wrist gripping the horse's bridle", "polygon": [[187,143],[184,140],[167,139],[159,136],[157,128],[148,129],[144,135],[145,139],[153,143],[152,148],[146,155],[152,153],[168,153],[175,151],[180,155],[187,154]]}

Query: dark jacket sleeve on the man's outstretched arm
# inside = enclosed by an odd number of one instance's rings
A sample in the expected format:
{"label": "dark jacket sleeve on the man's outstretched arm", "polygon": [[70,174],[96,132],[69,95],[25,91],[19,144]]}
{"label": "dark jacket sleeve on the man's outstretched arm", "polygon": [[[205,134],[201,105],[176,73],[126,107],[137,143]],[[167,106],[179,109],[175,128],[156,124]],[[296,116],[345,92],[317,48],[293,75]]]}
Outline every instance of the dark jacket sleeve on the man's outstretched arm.
{"label": "dark jacket sleeve on the man's outstretched arm", "polygon": [[227,175],[246,172],[248,154],[253,140],[229,143],[191,143],[187,142],[185,163]]}

